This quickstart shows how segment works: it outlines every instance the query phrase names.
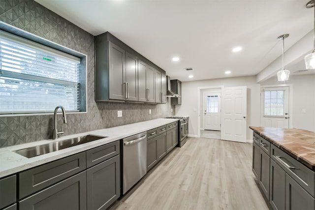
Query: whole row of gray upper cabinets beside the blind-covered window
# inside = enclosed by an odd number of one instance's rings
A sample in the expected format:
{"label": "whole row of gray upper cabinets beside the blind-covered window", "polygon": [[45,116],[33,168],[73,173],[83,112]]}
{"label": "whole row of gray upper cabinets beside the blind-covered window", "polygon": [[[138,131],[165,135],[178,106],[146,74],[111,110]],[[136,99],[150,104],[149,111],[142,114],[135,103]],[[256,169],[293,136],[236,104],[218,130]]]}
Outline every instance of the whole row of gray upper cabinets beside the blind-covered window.
{"label": "whole row of gray upper cabinets beside the blind-covered window", "polygon": [[[112,34],[95,36],[95,101],[156,103],[156,69],[165,75],[165,71]],[[164,77],[159,78],[161,85]]]}

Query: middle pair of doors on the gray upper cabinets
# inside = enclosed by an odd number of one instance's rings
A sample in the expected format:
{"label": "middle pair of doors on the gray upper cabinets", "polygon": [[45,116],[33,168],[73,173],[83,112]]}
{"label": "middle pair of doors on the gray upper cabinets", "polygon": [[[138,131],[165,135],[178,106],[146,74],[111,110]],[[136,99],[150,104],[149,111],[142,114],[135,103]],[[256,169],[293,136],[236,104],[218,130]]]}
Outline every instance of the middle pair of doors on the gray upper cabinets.
{"label": "middle pair of doors on the gray upper cabinets", "polygon": [[139,101],[156,102],[155,69],[142,60],[138,60],[138,93]]}

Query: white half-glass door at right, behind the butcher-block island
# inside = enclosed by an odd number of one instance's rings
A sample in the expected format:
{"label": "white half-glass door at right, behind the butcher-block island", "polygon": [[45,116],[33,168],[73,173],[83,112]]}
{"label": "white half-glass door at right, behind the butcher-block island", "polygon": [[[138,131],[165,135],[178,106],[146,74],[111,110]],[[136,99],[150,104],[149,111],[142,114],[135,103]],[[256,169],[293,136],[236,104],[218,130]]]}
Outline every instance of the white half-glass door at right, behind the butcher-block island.
{"label": "white half-glass door at right, behind the butcher-block island", "polygon": [[289,127],[289,88],[261,89],[261,126]]}

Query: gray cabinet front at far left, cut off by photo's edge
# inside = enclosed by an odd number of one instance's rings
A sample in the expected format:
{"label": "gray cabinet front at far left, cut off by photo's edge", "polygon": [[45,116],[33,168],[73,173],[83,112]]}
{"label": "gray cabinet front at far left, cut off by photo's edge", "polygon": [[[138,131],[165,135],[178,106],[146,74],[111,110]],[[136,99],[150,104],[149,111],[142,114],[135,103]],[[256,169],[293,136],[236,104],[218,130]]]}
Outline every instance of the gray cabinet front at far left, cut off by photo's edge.
{"label": "gray cabinet front at far left, cut off by photo's edge", "polygon": [[0,209],[16,201],[16,175],[0,179]]}

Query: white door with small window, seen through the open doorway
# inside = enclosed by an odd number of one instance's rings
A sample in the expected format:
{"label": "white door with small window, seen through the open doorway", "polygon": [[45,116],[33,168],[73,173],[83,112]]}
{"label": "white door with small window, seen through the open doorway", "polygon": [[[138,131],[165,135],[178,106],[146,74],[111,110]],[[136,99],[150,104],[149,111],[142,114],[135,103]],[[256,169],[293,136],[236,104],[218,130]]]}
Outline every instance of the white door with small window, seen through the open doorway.
{"label": "white door with small window, seen through the open doorway", "polygon": [[221,93],[204,93],[204,129],[221,130]]}

